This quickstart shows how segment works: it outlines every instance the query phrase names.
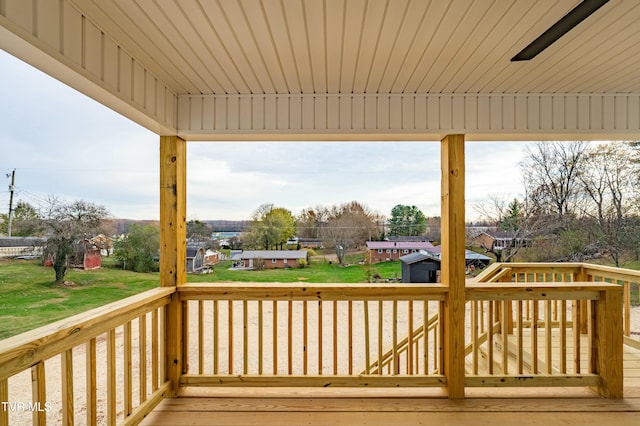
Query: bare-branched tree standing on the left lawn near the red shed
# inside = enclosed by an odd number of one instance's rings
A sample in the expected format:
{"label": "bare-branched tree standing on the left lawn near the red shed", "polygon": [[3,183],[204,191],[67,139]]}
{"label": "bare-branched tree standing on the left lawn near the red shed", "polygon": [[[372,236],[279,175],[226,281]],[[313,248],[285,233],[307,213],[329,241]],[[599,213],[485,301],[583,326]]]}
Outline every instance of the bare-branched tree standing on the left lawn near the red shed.
{"label": "bare-branched tree standing on the left lawn near the red shed", "polygon": [[45,250],[53,256],[55,282],[60,284],[67,273],[74,244],[80,239],[99,234],[109,212],[104,206],[84,200],[66,202],[49,197],[48,201],[47,212],[42,221],[47,235]]}

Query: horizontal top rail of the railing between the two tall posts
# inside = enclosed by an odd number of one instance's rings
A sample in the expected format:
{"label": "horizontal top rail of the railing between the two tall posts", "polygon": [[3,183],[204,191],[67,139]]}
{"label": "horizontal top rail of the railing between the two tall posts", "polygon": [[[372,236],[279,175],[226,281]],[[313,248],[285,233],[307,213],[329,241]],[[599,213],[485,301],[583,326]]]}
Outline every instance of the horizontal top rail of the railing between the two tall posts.
{"label": "horizontal top rail of the railing between the two tall posts", "polygon": [[444,300],[443,284],[206,283],[178,287],[183,300]]}

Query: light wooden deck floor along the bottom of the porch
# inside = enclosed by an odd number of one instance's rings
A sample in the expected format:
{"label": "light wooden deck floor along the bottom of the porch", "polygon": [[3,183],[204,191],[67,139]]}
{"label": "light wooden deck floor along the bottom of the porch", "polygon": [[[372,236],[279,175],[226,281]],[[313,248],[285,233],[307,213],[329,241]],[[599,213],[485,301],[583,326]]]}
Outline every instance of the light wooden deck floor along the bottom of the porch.
{"label": "light wooden deck floor along the bottom of the porch", "polygon": [[625,346],[625,397],[582,388],[184,389],[143,425],[640,425],[640,350]]}

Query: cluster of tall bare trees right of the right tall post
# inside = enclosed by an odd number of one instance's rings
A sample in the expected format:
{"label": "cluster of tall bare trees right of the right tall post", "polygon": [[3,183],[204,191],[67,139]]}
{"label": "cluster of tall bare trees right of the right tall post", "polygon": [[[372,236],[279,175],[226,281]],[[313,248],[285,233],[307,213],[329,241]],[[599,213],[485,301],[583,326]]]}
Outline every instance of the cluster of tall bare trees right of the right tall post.
{"label": "cluster of tall bare trees right of the right tall post", "polygon": [[520,169],[520,198],[478,209],[512,238],[501,260],[640,259],[639,142],[538,142]]}

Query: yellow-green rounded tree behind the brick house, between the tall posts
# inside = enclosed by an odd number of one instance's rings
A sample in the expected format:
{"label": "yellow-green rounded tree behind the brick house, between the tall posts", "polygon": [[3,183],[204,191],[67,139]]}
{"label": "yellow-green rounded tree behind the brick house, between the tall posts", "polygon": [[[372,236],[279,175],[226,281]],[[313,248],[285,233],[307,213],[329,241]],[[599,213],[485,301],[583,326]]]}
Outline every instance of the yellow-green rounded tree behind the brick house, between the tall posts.
{"label": "yellow-green rounded tree behind the brick house, between the tall posts", "polygon": [[245,237],[245,244],[265,250],[282,248],[295,236],[295,220],[291,212],[273,204],[263,204],[253,213],[253,221]]}

